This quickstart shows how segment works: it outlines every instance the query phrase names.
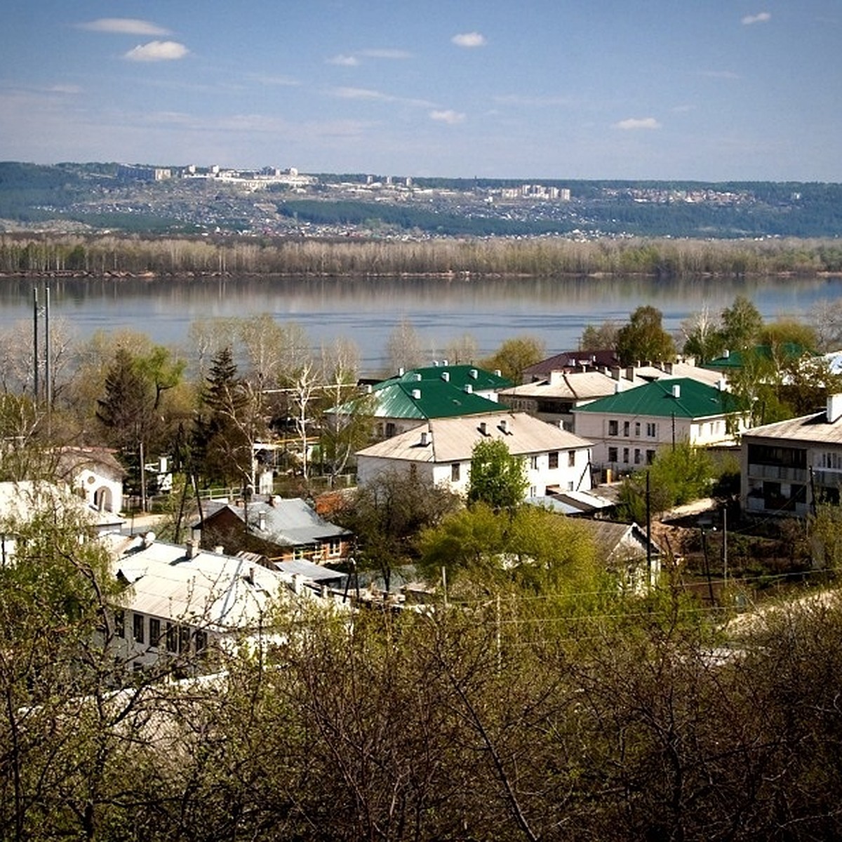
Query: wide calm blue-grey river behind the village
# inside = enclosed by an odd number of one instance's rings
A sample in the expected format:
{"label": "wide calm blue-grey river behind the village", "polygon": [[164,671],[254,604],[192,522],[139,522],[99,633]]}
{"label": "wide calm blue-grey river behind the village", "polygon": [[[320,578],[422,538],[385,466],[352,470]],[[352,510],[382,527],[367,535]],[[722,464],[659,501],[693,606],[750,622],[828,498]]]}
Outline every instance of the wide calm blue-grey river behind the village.
{"label": "wide calm blue-grey river behind the village", "polygon": [[[155,342],[188,344],[191,322],[269,313],[296,322],[312,346],[352,339],[363,368],[381,370],[390,333],[410,322],[440,358],[453,340],[471,334],[480,354],[504,339],[541,339],[547,354],[577,347],[588,324],[626,322],[637,306],[663,312],[663,327],[679,337],[681,322],[707,308],[712,315],[747,296],[767,320],[807,318],[821,301],[842,297],[842,277],[821,279],[674,280],[599,278],[442,280],[406,278],[214,278],[207,280],[51,279],[51,318],[69,322],[80,338],[131,328]],[[32,290],[44,280],[0,279],[0,330],[32,319]],[[40,292],[43,301],[43,292]],[[680,342],[679,342],[680,345]]]}

